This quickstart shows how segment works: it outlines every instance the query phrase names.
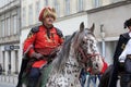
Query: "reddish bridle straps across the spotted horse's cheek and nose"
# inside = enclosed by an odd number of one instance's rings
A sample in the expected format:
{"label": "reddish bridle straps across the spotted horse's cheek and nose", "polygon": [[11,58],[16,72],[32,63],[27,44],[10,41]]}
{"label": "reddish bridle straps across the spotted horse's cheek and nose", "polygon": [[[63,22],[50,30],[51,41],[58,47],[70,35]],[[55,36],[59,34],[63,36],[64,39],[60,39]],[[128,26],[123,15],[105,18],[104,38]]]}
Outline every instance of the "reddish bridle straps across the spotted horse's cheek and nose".
{"label": "reddish bridle straps across the spotted horse's cheek and nose", "polygon": [[99,55],[99,53],[93,53],[93,54],[85,54],[85,52],[83,51],[83,49],[81,47],[79,47],[79,51],[82,54],[83,60],[81,61],[82,63],[85,63],[86,60],[88,60],[90,58]]}

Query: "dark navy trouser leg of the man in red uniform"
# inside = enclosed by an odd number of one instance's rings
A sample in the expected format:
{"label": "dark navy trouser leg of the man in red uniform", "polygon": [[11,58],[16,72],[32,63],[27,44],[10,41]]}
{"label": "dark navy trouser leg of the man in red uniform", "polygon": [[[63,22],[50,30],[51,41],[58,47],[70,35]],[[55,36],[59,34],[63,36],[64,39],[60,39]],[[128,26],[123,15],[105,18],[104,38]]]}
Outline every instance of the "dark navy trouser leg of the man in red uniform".
{"label": "dark navy trouser leg of the man in red uniform", "polygon": [[37,67],[32,67],[29,73],[29,80],[27,87],[36,87],[38,78],[40,76],[40,71]]}

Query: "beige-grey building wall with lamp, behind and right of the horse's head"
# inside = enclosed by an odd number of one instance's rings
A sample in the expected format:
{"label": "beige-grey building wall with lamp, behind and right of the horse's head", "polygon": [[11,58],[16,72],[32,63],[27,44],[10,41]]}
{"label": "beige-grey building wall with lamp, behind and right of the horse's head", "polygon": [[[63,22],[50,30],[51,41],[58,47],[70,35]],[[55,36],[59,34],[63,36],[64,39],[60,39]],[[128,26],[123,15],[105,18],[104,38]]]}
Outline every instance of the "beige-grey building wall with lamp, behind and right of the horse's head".
{"label": "beige-grey building wall with lamp, behind and right of the horse's head", "polygon": [[131,18],[131,1],[123,0],[87,11],[88,25],[95,23],[95,35],[105,60],[111,64],[119,35],[128,32],[123,23]]}

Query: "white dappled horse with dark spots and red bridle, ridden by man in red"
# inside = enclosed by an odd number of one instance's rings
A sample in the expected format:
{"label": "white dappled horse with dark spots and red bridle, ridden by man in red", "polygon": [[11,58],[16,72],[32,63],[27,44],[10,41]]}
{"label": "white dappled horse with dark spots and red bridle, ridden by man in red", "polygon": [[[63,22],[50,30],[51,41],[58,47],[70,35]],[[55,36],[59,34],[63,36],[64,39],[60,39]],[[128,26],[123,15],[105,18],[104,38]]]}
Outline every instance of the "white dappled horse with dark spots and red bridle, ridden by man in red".
{"label": "white dappled horse with dark spots and red bridle, ridden by man in red", "polygon": [[90,66],[94,74],[100,73],[103,60],[97,50],[94,24],[85,28],[84,23],[62,46],[56,59],[43,72],[40,87],[81,87],[79,76],[83,67]]}

